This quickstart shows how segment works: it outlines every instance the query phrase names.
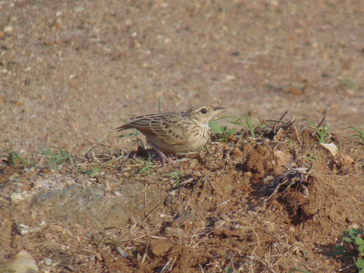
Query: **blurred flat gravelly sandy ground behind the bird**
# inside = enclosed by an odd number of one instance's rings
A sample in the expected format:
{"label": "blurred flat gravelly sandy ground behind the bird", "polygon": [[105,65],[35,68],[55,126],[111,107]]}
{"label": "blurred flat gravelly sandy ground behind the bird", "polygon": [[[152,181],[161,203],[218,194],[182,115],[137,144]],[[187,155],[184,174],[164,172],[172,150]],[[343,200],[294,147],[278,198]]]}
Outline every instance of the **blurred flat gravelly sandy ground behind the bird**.
{"label": "blurred flat gravelly sandy ground behind the bird", "polygon": [[[1,1],[0,145],[127,147],[128,115],[186,111],[363,122],[357,1]],[[350,132],[342,131],[343,134]]]}

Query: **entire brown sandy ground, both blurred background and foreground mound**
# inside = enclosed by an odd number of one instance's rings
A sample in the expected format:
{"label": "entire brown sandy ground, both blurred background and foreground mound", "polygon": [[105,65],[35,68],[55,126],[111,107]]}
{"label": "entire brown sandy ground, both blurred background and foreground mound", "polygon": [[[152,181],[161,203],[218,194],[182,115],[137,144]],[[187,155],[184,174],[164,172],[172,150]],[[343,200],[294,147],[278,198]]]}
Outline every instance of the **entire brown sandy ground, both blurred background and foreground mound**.
{"label": "entire brown sandy ground, both blurred background and foreground mound", "polygon": [[[358,258],[332,250],[364,223],[363,141],[335,134],[363,124],[360,0],[5,0],[0,13],[0,146],[35,163],[1,158],[0,263],[20,249],[41,272],[338,272]],[[178,170],[135,147],[85,155],[87,140],[131,147],[115,128],[159,99],[254,123],[326,116],[339,153],[315,138],[302,154],[312,131],[293,124],[257,139],[236,126]],[[63,154],[45,146],[70,157],[53,165]],[[310,173],[264,203],[292,168]]]}

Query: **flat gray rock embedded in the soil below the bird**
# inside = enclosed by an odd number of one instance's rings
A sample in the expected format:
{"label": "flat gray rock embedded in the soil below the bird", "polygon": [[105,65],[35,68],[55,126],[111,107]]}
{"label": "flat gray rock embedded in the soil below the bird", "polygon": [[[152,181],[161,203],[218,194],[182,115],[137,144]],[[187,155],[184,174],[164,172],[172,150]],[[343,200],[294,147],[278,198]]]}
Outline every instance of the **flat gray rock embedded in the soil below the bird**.
{"label": "flat gray rock embedded in the soil below the bird", "polygon": [[[148,198],[149,196],[149,198]],[[149,210],[159,204],[167,193],[147,192]],[[41,193],[33,200],[33,213],[42,215],[44,220],[64,224],[82,224],[100,229],[108,226],[124,226],[130,215],[144,217],[144,185],[134,183],[120,185],[118,195],[109,195],[103,187],[85,189],[71,185],[61,190]]]}

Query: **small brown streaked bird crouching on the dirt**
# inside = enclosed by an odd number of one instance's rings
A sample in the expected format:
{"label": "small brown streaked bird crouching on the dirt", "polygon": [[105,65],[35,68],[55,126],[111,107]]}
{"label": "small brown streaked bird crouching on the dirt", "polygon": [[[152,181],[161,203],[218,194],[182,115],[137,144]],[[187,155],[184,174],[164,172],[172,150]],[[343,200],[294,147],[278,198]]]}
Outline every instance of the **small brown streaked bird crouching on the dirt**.
{"label": "small brown streaked bird crouching on the dirt", "polygon": [[147,143],[157,151],[165,164],[167,154],[186,153],[201,148],[210,139],[210,119],[226,108],[209,104],[193,105],[186,112],[165,112],[135,116],[118,131],[135,128],[145,135]]}

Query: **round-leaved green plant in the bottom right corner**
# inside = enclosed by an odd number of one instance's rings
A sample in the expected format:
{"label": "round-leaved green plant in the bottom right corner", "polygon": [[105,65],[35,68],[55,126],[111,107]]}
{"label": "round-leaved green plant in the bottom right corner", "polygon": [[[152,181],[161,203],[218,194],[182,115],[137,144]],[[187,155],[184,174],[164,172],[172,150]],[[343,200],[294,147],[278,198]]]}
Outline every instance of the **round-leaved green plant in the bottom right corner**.
{"label": "round-leaved green plant in the bottom right corner", "polygon": [[[343,242],[348,242],[353,246],[357,247],[359,250],[359,255],[364,257],[364,229],[355,229],[354,227],[349,227],[348,230],[342,229],[343,232]],[[334,246],[335,251],[332,252],[333,256],[344,256],[347,253],[347,248],[342,245]],[[364,258],[359,258],[355,265],[360,270],[360,273],[364,273]]]}

